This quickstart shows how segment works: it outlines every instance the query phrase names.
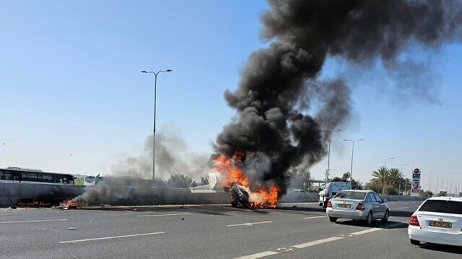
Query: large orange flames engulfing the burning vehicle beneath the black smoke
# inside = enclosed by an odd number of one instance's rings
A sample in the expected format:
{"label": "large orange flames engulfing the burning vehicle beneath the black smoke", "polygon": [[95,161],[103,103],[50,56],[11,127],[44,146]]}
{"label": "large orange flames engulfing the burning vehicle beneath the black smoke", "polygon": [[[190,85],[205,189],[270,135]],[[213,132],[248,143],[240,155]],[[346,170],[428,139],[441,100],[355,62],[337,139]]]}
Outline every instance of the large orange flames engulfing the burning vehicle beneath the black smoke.
{"label": "large orange flames engulfing the burning vehicle beneath the black smoke", "polygon": [[[221,173],[222,185],[224,187],[231,186],[232,183],[237,183],[240,186],[251,188],[248,177],[244,174],[241,168],[241,162],[244,158],[243,152],[236,152],[232,157],[219,155],[216,158],[214,169]],[[249,193],[249,207],[255,208],[276,208],[277,198],[281,189],[272,184],[269,189],[262,187],[256,188]]]}

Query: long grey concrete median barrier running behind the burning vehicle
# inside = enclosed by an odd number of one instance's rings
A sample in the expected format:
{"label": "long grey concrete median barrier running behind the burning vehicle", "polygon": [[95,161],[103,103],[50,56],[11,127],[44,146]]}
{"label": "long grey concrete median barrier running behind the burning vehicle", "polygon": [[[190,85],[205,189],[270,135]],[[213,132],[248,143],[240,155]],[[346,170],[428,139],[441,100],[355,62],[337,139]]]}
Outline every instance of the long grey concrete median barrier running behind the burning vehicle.
{"label": "long grey concrete median barrier running behind the burning vehicle", "polygon": [[[48,200],[59,203],[79,195],[90,195],[87,204],[153,205],[153,204],[228,204],[231,197],[224,191],[191,191],[190,189],[127,187],[127,186],[68,186],[35,183],[0,183],[0,207],[15,207],[18,202]],[[423,197],[382,195],[387,201],[419,201]],[[283,195],[281,202],[318,202],[318,193]]]}

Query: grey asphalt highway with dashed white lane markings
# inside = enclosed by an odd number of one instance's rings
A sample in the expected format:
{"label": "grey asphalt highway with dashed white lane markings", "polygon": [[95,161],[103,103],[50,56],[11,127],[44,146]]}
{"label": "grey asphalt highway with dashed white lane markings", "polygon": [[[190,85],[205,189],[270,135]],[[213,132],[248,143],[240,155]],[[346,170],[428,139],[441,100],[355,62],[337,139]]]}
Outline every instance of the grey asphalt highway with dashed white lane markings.
{"label": "grey asphalt highway with dashed white lane markings", "polygon": [[420,202],[388,202],[388,223],[330,223],[316,203],[0,209],[0,258],[461,258],[454,246],[413,246]]}

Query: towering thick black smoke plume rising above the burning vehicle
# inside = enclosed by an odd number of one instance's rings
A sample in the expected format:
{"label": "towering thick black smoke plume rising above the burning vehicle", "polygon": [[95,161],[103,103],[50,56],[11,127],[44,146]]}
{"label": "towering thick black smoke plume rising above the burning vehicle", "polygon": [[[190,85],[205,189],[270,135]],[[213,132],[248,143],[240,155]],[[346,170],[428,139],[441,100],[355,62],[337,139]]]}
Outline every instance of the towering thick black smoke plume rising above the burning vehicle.
{"label": "towering thick black smoke plume rising above the burning vehicle", "polygon": [[380,60],[389,71],[409,75],[415,66],[397,65],[400,54],[461,39],[460,1],[268,3],[261,21],[269,46],[250,55],[237,90],[225,92],[237,116],[216,139],[217,153],[244,151],[253,188],[274,182],[284,193],[290,168],[321,160],[332,130],[348,120],[351,91],[344,80],[318,80],[326,58]]}

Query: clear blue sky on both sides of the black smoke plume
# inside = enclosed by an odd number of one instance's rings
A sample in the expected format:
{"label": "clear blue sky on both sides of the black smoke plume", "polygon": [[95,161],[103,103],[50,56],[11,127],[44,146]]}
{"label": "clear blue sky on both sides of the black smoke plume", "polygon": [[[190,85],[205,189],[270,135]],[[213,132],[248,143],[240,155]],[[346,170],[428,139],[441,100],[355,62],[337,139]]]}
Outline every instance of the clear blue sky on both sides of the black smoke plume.
{"label": "clear blue sky on both sides of the black smoke plume", "polygon": [[[267,45],[258,20],[266,8],[244,0],[1,1],[0,167],[109,174],[142,153],[153,78],[140,70],[174,70],[158,78],[158,132],[174,125],[190,152],[211,153],[235,114],[223,92],[236,89],[248,55]],[[368,181],[393,157],[388,167],[408,176],[421,167],[425,189],[432,170],[433,190],[437,180],[462,188],[461,60],[461,45],[435,50],[428,73],[439,103],[396,94],[379,69],[351,76],[353,117],[332,135],[331,174],[349,171],[343,139],[365,139],[355,145],[354,178]],[[331,59],[323,74],[335,71],[349,70]],[[326,165],[311,168],[315,179]]]}

